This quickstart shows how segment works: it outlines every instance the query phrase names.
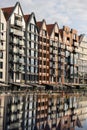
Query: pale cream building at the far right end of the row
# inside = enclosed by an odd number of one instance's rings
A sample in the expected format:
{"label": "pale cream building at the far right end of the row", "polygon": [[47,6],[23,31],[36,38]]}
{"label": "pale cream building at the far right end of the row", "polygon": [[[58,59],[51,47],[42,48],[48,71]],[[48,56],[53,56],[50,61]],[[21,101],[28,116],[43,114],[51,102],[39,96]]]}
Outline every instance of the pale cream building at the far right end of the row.
{"label": "pale cream building at the far right end of the row", "polygon": [[87,84],[87,36],[80,35],[79,42],[79,82]]}

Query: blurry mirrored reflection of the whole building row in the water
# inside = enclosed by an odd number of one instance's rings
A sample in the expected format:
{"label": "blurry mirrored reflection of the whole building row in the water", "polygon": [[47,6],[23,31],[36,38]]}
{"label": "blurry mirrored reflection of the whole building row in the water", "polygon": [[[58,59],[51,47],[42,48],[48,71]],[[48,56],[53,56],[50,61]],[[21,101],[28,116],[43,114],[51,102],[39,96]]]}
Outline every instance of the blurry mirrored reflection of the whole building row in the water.
{"label": "blurry mirrored reflection of the whole building row in the water", "polygon": [[1,94],[0,130],[87,130],[86,99],[77,94]]}

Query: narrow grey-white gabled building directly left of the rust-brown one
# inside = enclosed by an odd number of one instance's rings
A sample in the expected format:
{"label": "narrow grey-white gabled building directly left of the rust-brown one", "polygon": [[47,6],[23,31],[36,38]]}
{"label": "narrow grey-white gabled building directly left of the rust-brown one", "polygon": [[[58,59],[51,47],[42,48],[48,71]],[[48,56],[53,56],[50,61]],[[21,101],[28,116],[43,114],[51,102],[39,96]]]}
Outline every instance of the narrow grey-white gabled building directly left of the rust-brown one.
{"label": "narrow grey-white gabled building directly left of the rust-brown one", "polygon": [[35,14],[24,15],[26,22],[26,83],[38,83],[38,28]]}

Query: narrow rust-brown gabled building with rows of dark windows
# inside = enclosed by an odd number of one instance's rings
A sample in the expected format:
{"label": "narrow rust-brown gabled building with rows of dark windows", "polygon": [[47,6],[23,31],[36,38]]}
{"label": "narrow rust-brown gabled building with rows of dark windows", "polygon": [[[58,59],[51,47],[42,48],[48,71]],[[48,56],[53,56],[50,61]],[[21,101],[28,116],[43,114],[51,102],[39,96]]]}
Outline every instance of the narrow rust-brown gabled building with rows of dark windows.
{"label": "narrow rust-brown gabled building with rows of dark windows", "polygon": [[39,30],[39,83],[49,84],[49,35],[46,21],[37,22]]}

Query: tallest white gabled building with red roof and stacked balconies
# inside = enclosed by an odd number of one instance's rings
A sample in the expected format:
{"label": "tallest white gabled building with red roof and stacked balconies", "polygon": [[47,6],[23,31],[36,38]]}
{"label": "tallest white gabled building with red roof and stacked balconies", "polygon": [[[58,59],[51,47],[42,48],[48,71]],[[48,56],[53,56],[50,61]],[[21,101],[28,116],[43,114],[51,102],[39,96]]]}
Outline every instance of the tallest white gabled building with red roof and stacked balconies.
{"label": "tallest white gabled building with red roof and stacked balconies", "polygon": [[[25,82],[25,21],[19,2],[13,7],[2,8],[7,29],[6,77],[9,83]],[[6,58],[5,58],[6,59]]]}

